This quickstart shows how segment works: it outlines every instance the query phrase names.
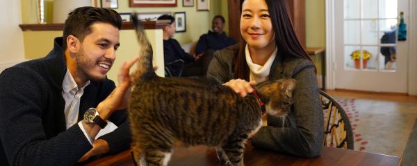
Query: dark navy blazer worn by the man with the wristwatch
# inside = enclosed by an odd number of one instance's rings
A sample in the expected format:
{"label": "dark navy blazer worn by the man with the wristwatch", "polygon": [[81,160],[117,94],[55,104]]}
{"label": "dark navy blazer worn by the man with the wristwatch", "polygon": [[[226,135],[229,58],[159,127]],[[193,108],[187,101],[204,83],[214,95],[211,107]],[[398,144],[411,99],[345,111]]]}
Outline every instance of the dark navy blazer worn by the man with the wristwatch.
{"label": "dark navy blazer worn by the man with the wristwatch", "polygon": [[[67,71],[62,37],[43,58],[17,64],[0,75],[0,165],[74,165],[92,148],[78,124],[66,129],[63,79]],[[81,97],[79,120],[115,88],[111,80],[90,81]],[[101,136],[111,152],[131,142],[126,110],[109,120],[118,129]],[[7,159],[7,160],[6,160]]]}

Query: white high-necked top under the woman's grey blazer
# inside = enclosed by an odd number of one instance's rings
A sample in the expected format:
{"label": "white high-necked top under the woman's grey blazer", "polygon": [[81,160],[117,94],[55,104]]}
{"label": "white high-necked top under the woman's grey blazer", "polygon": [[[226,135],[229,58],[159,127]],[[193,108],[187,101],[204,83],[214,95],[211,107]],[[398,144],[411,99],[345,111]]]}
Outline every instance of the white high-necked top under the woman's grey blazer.
{"label": "white high-necked top under the woman's grey blazer", "polygon": [[259,64],[254,64],[254,62],[252,62],[252,58],[250,57],[249,53],[249,47],[247,44],[245,47],[245,55],[247,66],[249,66],[250,68],[250,81],[255,81],[257,83],[268,80],[272,62],[274,62],[274,59],[277,56],[277,47],[275,47],[274,52],[272,53],[272,55],[270,55],[270,57],[265,62],[265,64],[263,64],[263,66]]}

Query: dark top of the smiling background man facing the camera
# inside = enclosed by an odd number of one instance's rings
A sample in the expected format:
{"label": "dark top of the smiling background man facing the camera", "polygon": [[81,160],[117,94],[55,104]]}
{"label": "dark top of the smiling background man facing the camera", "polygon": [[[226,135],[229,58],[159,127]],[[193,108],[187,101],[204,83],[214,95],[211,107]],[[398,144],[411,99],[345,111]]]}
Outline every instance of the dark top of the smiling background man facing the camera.
{"label": "dark top of the smiling background man facing the camera", "polygon": [[208,33],[199,37],[195,53],[198,55],[206,50],[221,50],[234,44],[236,44],[234,39],[227,37],[226,33],[215,33],[208,30]]}

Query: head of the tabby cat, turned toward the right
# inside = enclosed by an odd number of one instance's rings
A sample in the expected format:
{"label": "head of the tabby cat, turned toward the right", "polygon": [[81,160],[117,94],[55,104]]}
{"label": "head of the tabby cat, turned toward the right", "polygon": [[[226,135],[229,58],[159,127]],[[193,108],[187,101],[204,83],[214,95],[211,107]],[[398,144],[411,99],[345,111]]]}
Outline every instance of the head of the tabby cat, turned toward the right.
{"label": "head of the tabby cat, turned toward the right", "polygon": [[281,79],[261,86],[259,91],[266,100],[266,113],[271,116],[286,116],[294,103],[294,79]]}

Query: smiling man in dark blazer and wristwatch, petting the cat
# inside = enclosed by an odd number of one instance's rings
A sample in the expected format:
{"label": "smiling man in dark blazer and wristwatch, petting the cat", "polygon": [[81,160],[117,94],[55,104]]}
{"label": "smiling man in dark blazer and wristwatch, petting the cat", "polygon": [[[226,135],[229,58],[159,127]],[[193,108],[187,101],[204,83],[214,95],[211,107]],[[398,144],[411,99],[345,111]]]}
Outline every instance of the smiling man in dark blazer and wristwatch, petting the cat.
{"label": "smiling man in dark blazer and wristwatch, petting the cat", "polygon": [[[118,86],[106,77],[121,27],[114,10],[77,8],[46,57],[1,73],[0,165],[74,165],[129,148],[124,99],[137,58],[124,65]],[[118,128],[95,140],[107,120]]]}

